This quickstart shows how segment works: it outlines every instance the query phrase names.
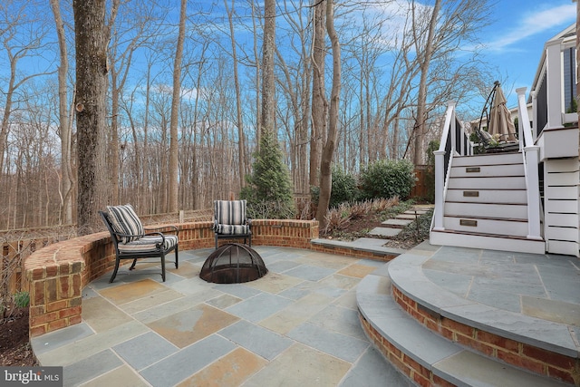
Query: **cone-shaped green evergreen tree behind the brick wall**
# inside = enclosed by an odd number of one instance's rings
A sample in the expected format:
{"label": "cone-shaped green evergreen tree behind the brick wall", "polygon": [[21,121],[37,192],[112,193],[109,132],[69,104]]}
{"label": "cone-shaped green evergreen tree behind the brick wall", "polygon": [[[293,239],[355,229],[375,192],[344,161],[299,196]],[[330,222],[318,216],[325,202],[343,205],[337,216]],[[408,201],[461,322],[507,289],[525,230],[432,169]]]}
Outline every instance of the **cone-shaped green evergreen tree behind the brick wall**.
{"label": "cone-shaped green evergreen tree behind the brick wall", "polygon": [[292,180],[274,133],[263,132],[254,157],[253,174],[246,177],[247,187],[241,192],[241,197],[247,199],[249,216],[294,218]]}

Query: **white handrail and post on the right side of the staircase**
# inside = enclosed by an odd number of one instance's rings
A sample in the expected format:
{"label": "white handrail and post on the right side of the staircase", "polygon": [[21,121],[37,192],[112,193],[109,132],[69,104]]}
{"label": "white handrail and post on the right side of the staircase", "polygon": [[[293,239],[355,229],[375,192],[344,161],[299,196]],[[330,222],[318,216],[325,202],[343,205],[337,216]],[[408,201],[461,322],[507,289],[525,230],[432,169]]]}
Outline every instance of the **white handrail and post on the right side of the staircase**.
{"label": "white handrail and post on the right side of the staircase", "polygon": [[540,148],[534,143],[529,124],[526,103],[526,88],[516,89],[520,149],[524,157],[527,191],[527,229],[529,239],[542,239],[540,227],[540,185],[538,163]]}

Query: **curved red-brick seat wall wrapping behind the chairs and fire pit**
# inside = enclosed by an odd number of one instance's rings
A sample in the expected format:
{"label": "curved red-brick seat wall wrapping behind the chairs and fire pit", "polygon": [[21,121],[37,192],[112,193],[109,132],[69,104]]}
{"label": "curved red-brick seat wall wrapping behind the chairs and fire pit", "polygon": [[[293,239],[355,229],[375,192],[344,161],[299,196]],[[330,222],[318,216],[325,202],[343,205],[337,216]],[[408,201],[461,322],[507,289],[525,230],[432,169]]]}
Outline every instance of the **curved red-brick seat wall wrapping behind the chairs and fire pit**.
{"label": "curved red-brick seat wall wrapping behind the chairs and fire pit", "polygon": [[[213,247],[210,221],[183,223],[179,249]],[[315,220],[255,219],[252,245],[318,249]],[[220,241],[227,243],[227,241]],[[82,321],[82,288],[112,270],[114,247],[109,233],[75,237],[35,251],[24,261],[24,290],[30,293],[30,335],[45,334]]]}

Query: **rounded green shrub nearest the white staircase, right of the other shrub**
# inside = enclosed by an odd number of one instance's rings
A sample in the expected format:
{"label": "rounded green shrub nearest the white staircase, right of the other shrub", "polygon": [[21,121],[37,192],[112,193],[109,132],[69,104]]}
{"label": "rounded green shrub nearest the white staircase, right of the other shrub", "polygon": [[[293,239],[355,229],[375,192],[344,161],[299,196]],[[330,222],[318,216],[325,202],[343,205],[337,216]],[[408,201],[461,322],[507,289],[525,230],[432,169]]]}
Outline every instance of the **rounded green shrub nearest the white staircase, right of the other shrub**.
{"label": "rounded green shrub nearest the white staircase, right of the other shrub", "polygon": [[414,166],[409,160],[377,160],[361,170],[362,197],[408,198],[415,185]]}

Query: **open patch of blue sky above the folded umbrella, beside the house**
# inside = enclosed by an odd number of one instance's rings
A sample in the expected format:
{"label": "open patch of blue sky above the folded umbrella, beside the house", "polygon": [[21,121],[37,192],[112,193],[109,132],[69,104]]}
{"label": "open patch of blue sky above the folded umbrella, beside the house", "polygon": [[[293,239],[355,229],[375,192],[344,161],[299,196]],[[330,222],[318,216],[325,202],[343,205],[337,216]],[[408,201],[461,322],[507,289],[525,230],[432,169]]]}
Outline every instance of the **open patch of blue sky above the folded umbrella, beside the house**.
{"label": "open patch of blue sky above the folded umbrella, beside the house", "polygon": [[480,40],[505,81],[509,107],[517,104],[517,88],[529,93],[546,40],[575,23],[575,6],[572,0],[498,0],[494,6]]}

